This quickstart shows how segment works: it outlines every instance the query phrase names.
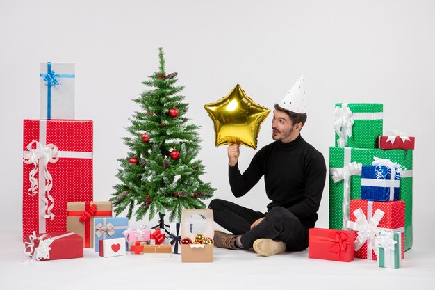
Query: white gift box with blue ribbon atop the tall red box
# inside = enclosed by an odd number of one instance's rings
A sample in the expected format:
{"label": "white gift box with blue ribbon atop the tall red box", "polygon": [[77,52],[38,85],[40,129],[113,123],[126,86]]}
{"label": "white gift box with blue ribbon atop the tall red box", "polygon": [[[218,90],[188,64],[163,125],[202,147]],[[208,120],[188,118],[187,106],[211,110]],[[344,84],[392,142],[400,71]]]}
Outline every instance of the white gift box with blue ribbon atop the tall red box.
{"label": "white gift box with blue ribbon atop the tall red box", "polygon": [[41,119],[74,120],[74,63],[41,63]]}

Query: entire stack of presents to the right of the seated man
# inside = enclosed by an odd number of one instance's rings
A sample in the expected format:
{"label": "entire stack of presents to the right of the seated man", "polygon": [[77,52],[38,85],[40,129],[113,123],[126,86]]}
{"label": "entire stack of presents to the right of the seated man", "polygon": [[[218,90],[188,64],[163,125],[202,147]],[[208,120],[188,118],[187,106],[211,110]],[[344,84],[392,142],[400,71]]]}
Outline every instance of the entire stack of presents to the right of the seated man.
{"label": "entire stack of presents to the right of the seated man", "polygon": [[400,268],[412,246],[414,138],[383,134],[382,104],[336,104],[329,147],[329,229],[310,229],[309,257]]}

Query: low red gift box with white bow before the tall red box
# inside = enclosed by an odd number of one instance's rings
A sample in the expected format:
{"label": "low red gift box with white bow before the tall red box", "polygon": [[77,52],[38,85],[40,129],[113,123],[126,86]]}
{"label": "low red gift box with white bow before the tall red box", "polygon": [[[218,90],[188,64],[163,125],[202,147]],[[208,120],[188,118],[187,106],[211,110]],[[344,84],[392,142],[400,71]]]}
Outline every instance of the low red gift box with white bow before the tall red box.
{"label": "low red gift box with white bow before the tall red box", "polygon": [[24,254],[33,261],[83,258],[83,238],[74,232],[28,234]]}

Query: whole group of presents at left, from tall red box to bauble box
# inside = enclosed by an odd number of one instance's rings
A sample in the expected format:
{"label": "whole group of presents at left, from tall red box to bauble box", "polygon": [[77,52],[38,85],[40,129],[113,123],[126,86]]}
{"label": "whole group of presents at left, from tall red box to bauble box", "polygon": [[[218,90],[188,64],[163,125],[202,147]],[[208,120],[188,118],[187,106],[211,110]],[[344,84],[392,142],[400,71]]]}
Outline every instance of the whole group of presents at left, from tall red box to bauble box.
{"label": "whole group of presents at left, from tall red box to bauble box", "polygon": [[93,201],[92,121],[74,120],[74,77],[74,63],[42,63],[41,117],[24,120],[24,254],[47,261],[83,257],[83,248],[101,257],[182,250],[182,261],[213,261],[213,244],[203,243],[213,237],[212,211],[183,211],[167,232],[129,226],[112,216],[111,202]]}

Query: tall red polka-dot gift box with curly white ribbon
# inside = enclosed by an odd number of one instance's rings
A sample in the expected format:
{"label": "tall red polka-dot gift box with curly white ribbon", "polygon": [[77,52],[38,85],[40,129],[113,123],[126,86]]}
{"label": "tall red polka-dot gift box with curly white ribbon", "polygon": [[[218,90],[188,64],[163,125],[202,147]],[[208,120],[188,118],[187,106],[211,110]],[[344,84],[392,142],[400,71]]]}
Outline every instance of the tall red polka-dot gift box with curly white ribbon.
{"label": "tall red polka-dot gift box with curly white ribbon", "polygon": [[24,120],[23,241],[66,232],[67,202],[91,201],[92,121]]}

